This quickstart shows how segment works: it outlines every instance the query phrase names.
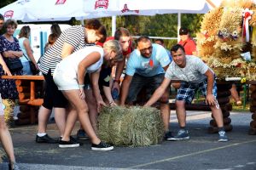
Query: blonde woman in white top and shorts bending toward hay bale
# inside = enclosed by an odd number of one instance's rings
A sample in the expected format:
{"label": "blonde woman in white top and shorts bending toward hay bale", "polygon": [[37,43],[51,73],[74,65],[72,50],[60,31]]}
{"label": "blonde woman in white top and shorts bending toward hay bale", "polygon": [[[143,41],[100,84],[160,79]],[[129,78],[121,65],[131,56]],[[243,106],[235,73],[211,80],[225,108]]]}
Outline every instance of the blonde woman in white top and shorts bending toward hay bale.
{"label": "blonde woman in white top and shorts bending toward hay bale", "polygon": [[[69,101],[71,112],[78,113],[78,115],[69,114],[67,116],[67,125],[59,143],[61,148],[79,146],[79,143],[70,139],[71,131],[67,130],[69,129],[67,127],[74,125],[79,116],[79,122],[91,140],[91,150],[113,150],[113,146],[102,142],[96,136],[88,116],[88,105],[84,100],[84,75],[86,72],[91,73],[91,81],[98,82],[103,57],[115,61],[122,59],[119,42],[115,40],[106,42],[103,48],[98,46],[82,48],[67,56],[56,66],[53,75],[55,84]],[[93,90],[96,96],[101,95],[99,88]]]}

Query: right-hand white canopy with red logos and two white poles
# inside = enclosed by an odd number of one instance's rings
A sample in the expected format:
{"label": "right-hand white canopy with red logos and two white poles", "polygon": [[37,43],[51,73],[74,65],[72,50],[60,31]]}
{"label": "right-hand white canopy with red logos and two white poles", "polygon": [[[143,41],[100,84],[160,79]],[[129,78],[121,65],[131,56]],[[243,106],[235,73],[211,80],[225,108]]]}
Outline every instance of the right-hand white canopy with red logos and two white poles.
{"label": "right-hand white canopy with red logos and two white poles", "polygon": [[[205,14],[218,6],[221,0],[84,0],[84,11],[98,18],[112,17],[112,34],[116,15],[177,14],[177,31],[181,26],[181,14]],[[178,37],[178,32],[177,32]]]}

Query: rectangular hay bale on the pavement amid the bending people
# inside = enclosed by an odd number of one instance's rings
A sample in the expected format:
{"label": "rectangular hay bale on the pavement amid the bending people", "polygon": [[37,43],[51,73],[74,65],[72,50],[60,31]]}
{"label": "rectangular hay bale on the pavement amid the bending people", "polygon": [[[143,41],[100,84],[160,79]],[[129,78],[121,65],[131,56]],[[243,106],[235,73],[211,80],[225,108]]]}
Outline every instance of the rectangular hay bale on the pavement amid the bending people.
{"label": "rectangular hay bale on the pavement amid the bending people", "polygon": [[98,117],[100,139],[117,146],[159,144],[164,136],[160,111],[152,107],[105,107]]}

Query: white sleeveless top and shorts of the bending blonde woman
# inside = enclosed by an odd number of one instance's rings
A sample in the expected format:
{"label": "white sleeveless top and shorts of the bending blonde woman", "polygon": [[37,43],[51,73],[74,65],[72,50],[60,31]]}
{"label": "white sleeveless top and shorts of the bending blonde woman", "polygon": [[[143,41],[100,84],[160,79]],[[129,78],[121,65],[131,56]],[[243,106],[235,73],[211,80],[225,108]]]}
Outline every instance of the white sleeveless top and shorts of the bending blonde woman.
{"label": "white sleeveless top and shorts of the bending blonde woman", "polygon": [[[60,90],[79,89],[78,83],[78,69],[79,63],[93,52],[101,54],[101,58],[95,64],[90,65],[86,71],[91,73],[101,68],[103,63],[103,48],[98,46],[90,46],[79,49],[79,51],[68,55],[62,59],[56,66],[54,71],[54,81]],[[85,74],[84,74],[85,75]]]}

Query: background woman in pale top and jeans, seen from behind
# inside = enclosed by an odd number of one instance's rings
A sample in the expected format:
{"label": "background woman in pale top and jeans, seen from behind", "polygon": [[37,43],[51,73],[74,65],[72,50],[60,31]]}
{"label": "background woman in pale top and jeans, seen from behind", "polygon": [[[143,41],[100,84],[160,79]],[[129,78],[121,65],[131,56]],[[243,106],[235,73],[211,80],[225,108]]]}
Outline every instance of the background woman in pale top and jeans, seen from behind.
{"label": "background woman in pale top and jeans, seen from behind", "polygon": [[22,68],[22,75],[32,75],[32,71],[29,65],[29,61],[32,61],[32,63],[36,66],[38,69],[38,64],[36,59],[33,56],[32,48],[30,47],[29,38],[30,36],[30,27],[29,26],[23,26],[20,29],[19,34],[19,44],[20,48],[23,52],[23,56],[20,57],[21,63],[23,65]]}

